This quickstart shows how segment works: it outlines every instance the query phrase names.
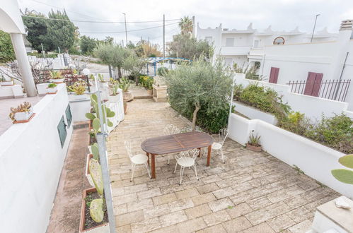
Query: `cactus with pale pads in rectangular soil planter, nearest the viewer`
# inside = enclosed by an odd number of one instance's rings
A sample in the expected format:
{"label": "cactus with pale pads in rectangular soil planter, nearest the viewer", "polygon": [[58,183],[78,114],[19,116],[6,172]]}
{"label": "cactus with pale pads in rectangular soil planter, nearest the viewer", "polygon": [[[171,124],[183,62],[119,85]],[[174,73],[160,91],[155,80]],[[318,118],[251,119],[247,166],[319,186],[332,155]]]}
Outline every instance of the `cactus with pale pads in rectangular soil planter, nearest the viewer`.
{"label": "cactus with pale pads in rectangular soil planter, nearest the viewer", "polygon": [[108,232],[102,168],[98,160],[91,158],[88,169],[95,187],[83,191],[80,232],[89,232],[98,227],[105,228],[100,229],[100,232]]}

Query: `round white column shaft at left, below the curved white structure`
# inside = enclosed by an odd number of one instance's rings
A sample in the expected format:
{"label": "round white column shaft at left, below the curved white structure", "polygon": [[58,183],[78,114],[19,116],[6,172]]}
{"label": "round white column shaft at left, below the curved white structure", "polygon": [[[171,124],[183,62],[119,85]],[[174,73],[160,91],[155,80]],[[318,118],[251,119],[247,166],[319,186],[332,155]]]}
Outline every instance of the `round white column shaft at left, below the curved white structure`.
{"label": "round white column shaft at left, below the curved white structure", "polygon": [[21,33],[10,33],[13,50],[15,51],[18,68],[22,76],[25,92],[28,96],[36,96],[35,82],[33,80],[32,71],[30,70],[30,63],[28,62],[27,53],[25,52],[25,43],[23,42],[23,35]]}

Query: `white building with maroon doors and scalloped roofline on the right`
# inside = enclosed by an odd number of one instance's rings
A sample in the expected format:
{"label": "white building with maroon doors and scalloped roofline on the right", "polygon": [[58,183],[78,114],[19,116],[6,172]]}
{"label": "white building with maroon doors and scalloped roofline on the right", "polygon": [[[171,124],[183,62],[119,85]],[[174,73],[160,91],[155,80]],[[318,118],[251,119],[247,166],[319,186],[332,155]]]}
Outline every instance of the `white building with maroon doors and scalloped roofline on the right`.
{"label": "white building with maroon doors and scalloped roofline on the right", "polygon": [[[274,32],[271,27],[259,32],[250,24],[246,30],[202,29],[197,38],[214,43],[215,56],[226,63],[249,67],[257,62],[257,74],[270,83],[289,85],[291,92],[348,102],[353,110],[352,20],[342,21],[337,34],[326,29],[311,35],[299,32]],[[338,112],[337,112],[338,113]]]}

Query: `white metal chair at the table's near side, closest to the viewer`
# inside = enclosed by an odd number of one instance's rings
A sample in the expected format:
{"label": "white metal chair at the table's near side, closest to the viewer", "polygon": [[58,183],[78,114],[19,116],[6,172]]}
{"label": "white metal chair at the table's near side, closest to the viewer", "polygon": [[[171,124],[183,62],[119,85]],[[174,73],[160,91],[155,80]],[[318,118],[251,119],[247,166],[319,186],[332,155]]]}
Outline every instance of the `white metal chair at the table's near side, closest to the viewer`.
{"label": "white metal chair at the table's near side, closest to the viewer", "polygon": [[199,155],[198,149],[183,151],[183,152],[180,152],[179,154],[175,155],[176,163],[175,163],[175,169],[174,169],[173,173],[175,173],[176,168],[178,167],[178,165],[180,165],[179,185],[183,181],[183,174],[184,174],[185,167],[193,168],[195,170],[196,179],[199,180],[199,177],[197,177],[196,163],[195,163],[197,155]]}

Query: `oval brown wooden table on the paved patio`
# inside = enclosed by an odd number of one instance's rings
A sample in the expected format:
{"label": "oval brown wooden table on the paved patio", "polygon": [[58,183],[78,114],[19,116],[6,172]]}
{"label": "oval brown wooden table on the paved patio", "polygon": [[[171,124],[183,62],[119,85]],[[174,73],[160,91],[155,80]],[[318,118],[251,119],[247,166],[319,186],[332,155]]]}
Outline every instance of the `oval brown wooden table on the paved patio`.
{"label": "oval brown wooden table on the paved patio", "polygon": [[184,150],[191,150],[194,148],[208,147],[207,166],[211,160],[211,150],[214,138],[207,133],[202,132],[188,132],[177,133],[167,136],[146,139],[141,143],[141,148],[149,157],[151,155],[151,174],[152,178],[156,178],[155,156],[165,155],[169,153],[178,153]]}

